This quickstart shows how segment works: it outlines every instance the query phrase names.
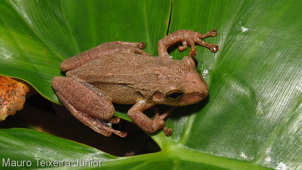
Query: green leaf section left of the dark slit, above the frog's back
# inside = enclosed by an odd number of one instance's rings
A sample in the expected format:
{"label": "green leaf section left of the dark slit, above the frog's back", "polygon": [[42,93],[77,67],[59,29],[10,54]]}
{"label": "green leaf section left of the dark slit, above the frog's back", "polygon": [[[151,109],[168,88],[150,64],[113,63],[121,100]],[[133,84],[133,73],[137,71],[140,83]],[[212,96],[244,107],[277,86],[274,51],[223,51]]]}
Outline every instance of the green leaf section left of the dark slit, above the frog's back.
{"label": "green leaf section left of the dark slit, above the frog's back", "polygon": [[155,9],[152,3],[2,1],[0,74],[26,80],[59,103],[50,82],[62,76],[64,59],[117,40],[148,42],[146,50],[157,51],[168,27],[170,2],[162,1]]}

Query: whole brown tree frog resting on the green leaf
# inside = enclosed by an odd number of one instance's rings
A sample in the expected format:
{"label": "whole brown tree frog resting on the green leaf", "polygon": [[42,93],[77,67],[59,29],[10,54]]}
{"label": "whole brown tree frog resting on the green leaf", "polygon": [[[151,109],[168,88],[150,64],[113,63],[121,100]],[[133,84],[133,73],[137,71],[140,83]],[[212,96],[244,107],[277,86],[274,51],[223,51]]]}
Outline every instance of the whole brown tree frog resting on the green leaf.
{"label": "whole brown tree frog resting on the green leaf", "polygon": [[[207,83],[197,71],[194,43],[217,52],[218,45],[201,40],[216,35],[214,29],[206,34],[177,30],[159,40],[158,56],[144,52],[143,42],[103,43],[64,60],[60,69],[67,71],[66,77],[55,76],[51,83],[71,114],[104,136],[127,136],[112,128],[120,122],[119,117],[113,117],[113,103],[133,104],[127,115],[137,126],[147,133],[162,128],[165,136],[170,136],[173,131],[164,119],[176,107],[197,103],[208,95]],[[180,41],[179,51],[191,46],[189,56],[173,60],[167,49]],[[171,108],[159,114],[158,104]],[[151,107],[153,119],[143,113]]]}

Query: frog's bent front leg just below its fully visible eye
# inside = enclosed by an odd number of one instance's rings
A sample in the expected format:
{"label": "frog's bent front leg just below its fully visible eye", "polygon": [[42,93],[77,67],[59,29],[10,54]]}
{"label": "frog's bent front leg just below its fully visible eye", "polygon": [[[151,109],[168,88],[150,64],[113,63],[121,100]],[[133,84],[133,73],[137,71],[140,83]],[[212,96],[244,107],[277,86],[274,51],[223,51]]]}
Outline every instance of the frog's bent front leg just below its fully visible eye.
{"label": "frog's bent front leg just below its fully visible eye", "polygon": [[165,135],[170,136],[172,134],[172,129],[169,129],[165,126],[164,119],[173,111],[174,108],[170,108],[167,112],[162,115],[159,115],[158,108],[155,107],[154,111],[156,112],[153,120],[143,114],[142,111],[154,106],[156,103],[149,103],[144,100],[138,101],[133,107],[128,111],[128,116],[133,120],[137,126],[139,126],[142,130],[153,133],[158,129],[163,128]]}

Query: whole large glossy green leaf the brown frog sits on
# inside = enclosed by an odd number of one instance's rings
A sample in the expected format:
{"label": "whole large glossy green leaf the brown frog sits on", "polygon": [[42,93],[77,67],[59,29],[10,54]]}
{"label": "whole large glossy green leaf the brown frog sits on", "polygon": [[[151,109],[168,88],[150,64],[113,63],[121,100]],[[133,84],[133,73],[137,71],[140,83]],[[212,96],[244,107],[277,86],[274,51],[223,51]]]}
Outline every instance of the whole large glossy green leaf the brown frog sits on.
{"label": "whole large glossy green leaf the brown frog sits on", "polygon": [[[114,157],[37,131],[8,129],[0,130],[5,144],[0,157],[34,162],[86,160],[82,155],[89,155],[87,160],[102,159],[101,165],[112,169],[301,169],[301,5],[289,0],[172,1],[169,33],[216,29],[217,36],[204,41],[220,49],[212,53],[196,47],[209,96],[169,115],[172,136],[162,130],[151,134],[161,152]],[[1,1],[0,6],[0,74],[23,79],[58,103],[50,82],[62,76],[63,59],[116,40],[146,42],[145,51],[157,55],[171,1]],[[174,59],[188,55],[189,49],[180,53],[177,47],[170,49]],[[117,110],[117,116],[129,120],[123,109]]]}

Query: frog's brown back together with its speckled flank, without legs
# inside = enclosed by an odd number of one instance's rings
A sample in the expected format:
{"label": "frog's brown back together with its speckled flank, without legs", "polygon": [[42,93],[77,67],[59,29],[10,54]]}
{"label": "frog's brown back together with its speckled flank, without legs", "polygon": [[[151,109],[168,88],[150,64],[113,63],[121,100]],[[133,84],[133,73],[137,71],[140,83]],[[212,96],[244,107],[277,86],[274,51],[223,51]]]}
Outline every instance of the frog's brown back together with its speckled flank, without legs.
{"label": "frog's brown back together with its speckled flank, without legs", "polygon": [[[66,76],[95,85],[112,102],[134,104],[140,99],[151,100],[156,91],[171,81],[187,82],[187,74],[192,70],[185,64],[166,57],[112,53],[71,70]],[[194,72],[198,74],[195,69]]]}

